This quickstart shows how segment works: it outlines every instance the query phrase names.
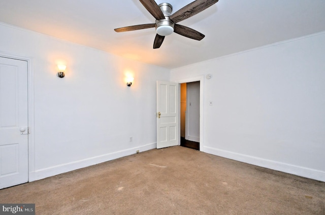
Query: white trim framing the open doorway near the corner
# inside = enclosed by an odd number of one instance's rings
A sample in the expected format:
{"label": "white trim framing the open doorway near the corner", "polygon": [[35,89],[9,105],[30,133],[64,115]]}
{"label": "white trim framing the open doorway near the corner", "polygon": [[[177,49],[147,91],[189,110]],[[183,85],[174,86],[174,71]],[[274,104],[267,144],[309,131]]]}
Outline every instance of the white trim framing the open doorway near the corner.
{"label": "white trim framing the open doorway near the corner", "polygon": [[[188,78],[188,79],[180,79],[180,80],[174,80],[174,82],[180,84],[183,83],[188,83],[188,82],[196,82],[199,81],[200,82],[200,151],[204,152],[204,75],[201,76],[196,76],[196,77],[192,77],[192,78]],[[181,88],[178,88],[178,100],[180,101],[180,93]],[[180,128],[180,105],[179,105],[179,114],[178,114],[178,126]],[[178,129],[178,136],[180,137],[181,135],[181,130]],[[179,139],[179,143],[178,145],[180,145],[180,139]]]}

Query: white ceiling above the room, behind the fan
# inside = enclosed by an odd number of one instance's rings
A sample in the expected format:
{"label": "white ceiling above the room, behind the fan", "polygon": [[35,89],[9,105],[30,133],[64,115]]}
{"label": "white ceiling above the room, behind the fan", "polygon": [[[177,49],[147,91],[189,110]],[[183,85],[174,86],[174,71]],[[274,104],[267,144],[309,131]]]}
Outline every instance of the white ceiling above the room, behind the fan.
{"label": "white ceiling above the room, behind the fan", "polygon": [[[168,2],[173,13],[193,0]],[[325,30],[324,0],[219,0],[179,24],[205,34],[202,41],[172,33],[153,49],[155,29],[114,28],[154,23],[139,0],[0,0],[9,23],[149,64],[176,68]],[[0,35],[1,37],[1,35]],[[1,39],[1,38],[0,38]]]}

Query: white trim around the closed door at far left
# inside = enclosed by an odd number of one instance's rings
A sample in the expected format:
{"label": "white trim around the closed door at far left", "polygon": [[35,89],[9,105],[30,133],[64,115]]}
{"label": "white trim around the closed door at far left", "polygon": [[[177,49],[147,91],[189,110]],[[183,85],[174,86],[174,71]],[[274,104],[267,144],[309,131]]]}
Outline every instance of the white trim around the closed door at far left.
{"label": "white trim around the closed door at far left", "polygon": [[34,115],[34,69],[33,58],[0,51],[0,57],[27,61],[28,96],[28,182],[35,181],[35,115]]}

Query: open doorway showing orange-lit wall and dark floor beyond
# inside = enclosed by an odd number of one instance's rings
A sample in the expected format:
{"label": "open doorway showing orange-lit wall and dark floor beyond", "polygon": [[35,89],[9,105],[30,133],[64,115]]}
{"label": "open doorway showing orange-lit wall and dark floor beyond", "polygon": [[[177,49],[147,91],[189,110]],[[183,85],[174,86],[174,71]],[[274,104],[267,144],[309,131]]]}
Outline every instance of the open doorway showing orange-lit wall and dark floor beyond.
{"label": "open doorway showing orange-lit wall and dark floor beyond", "polygon": [[180,145],[200,150],[200,81],[180,85]]}

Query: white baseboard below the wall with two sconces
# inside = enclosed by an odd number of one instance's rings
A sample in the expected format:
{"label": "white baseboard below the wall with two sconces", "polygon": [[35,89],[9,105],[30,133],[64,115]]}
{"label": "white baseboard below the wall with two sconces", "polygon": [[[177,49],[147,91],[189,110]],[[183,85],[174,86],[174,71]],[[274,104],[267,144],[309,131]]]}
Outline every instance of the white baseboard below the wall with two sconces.
{"label": "white baseboard below the wall with two sconces", "polygon": [[156,146],[157,146],[156,143],[148,144],[148,145],[144,145],[141,147],[135,147],[135,148],[127,149],[127,150],[113,152],[113,153],[96,156],[96,157],[92,157],[92,158],[87,158],[87,159],[83,159],[83,160],[79,160],[79,161],[75,161],[75,162],[71,162],[71,163],[61,164],[61,165],[57,165],[57,166],[51,166],[51,167],[44,168],[44,169],[38,169],[35,172],[29,172],[29,182],[37,181],[37,180],[40,180],[40,179],[43,179],[46,177],[50,177],[50,176],[54,176],[54,175],[61,174],[64,172],[69,172],[69,171],[84,168],[87,166],[103,163],[106,161],[114,160],[114,159],[125,157],[128,155],[133,155],[133,154],[136,154],[137,150],[139,150],[140,152],[148,151],[151,149],[155,149]]}

